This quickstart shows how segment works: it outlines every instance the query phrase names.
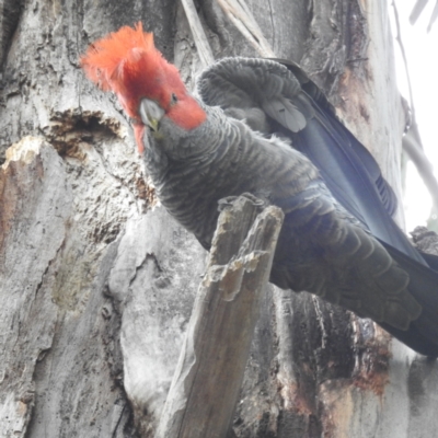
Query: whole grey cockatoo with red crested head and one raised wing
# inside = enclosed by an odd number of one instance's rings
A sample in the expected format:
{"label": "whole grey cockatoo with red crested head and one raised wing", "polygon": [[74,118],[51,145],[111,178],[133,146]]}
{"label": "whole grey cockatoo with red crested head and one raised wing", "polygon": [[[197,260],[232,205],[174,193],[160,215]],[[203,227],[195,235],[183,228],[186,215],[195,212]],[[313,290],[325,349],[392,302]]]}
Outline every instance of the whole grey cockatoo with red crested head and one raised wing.
{"label": "whole grey cockatoo with red crested head and one raised wing", "polygon": [[278,206],[274,285],[438,356],[438,257],[396,226],[396,196],[378,163],[297,64],[223,58],[191,93],[141,23],[94,42],[80,62],[117,95],[161,204],[205,249],[220,199],[250,194]]}

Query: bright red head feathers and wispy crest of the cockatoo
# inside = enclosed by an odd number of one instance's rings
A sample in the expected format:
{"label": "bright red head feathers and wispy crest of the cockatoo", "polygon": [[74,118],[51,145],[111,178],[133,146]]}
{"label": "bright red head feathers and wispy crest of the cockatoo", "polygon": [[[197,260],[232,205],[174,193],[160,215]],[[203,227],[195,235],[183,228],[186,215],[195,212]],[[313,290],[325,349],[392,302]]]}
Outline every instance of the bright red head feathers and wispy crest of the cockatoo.
{"label": "bright red head feathers and wispy crest of the cockatoo", "polygon": [[187,94],[176,67],[157,50],[153,35],[143,32],[141,23],[95,42],[81,57],[81,65],[102,90],[117,94],[126,113],[138,123],[143,97],[155,101],[184,129],[193,129],[206,119],[203,108]]}

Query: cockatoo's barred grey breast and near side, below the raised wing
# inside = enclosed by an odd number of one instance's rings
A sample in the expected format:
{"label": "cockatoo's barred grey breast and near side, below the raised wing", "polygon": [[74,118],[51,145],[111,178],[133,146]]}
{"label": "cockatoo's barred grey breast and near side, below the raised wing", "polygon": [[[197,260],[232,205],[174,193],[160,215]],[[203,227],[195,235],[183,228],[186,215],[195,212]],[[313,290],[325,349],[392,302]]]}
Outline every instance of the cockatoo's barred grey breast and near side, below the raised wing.
{"label": "cockatoo's barred grey breast and near side, below the raised wing", "polygon": [[217,107],[205,110],[207,122],[189,136],[182,131],[176,142],[174,125],[163,120],[163,139],[146,149],[147,168],[170,214],[209,247],[219,199],[242,193],[266,199],[286,212],[275,284],[407,328],[420,311],[405,289],[407,275],[336,203],[316,168],[284,141],[262,137]]}

